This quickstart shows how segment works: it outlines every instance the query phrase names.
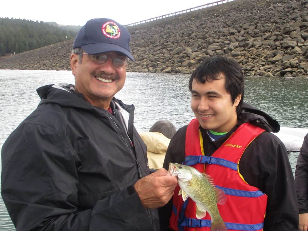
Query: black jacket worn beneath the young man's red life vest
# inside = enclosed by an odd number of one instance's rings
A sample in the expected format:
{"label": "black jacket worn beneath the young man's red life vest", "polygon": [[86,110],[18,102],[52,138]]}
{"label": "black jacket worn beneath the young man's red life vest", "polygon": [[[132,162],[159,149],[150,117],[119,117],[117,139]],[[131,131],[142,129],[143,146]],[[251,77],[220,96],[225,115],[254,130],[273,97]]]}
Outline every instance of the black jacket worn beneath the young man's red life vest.
{"label": "black jacket worn beneath the young man's red life vest", "polygon": [[[201,128],[205,155],[211,156],[242,123],[250,122],[265,129],[267,132],[257,136],[246,148],[239,162],[239,170],[247,183],[268,195],[264,231],[298,230],[294,177],[286,148],[277,136],[270,133],[279,131],[278,122],[246,103],[243,104],[238,121],[225,137],[216,141],[212,141]],[[187,126],[180,128],[172,137],[164,160],[164,168],[168,169],[169,162],[184,161],[186,129]],[[167,224],[171,216],[171,203],[159,209],[162,230],[169,230]]]}

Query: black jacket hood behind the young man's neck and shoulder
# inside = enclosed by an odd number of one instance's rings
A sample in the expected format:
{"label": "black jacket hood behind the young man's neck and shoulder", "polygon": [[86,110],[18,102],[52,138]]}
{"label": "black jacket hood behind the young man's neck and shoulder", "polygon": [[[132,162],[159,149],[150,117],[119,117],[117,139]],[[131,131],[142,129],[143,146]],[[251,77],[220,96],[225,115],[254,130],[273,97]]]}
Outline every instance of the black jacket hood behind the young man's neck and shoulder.
{"label": "black jacket hood behind the young man's neck and shoulder", "polygon": [[245,102],[243,102],[240,117],[243,123],[250,122],[255,126],[265,129],[267,132],[279,132],[280,130],[279,123],[270,115]]}

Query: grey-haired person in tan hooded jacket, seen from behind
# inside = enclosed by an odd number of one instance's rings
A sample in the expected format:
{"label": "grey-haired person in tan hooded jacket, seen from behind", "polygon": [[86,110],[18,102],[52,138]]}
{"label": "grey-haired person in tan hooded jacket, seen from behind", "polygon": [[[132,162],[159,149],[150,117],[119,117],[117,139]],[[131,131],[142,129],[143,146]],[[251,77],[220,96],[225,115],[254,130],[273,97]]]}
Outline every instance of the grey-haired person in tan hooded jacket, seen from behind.
{"label": "grey-haired person in tan hooded jacket, seen from behind", "polygon": [[151,172],[163,167],[165,154],[170,139],[176,133],[174,125],[165,120],[158,120],[148,132],[140,132],[140,136],[147,145],[148,163]]}

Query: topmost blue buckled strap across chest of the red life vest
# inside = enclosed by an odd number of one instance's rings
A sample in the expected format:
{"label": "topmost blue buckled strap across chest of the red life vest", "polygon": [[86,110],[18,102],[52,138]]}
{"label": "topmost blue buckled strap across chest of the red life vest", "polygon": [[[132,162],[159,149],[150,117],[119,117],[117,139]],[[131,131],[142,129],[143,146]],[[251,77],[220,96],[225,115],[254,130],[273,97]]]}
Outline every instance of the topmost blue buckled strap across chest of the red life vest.
{"label": "topmost blue buckled strap across chest of the red life vest", "polygon": [[186,156],[184,160],[185,165],[194,165],[194,164],[218,164],[227,168],[231,168],[237,171],[237,163],[225,160],[222,158],[212,157],[212,156]]}

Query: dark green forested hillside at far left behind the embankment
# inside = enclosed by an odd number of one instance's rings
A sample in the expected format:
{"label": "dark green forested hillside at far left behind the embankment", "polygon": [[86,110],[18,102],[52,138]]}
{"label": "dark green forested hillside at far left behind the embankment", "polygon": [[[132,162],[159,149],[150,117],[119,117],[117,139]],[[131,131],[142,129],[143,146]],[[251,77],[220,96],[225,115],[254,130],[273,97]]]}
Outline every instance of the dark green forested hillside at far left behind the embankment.
{"label": "dark green forested hillside at far left behind the embankment", "polygon": [[77,34],[47,22],[0,18],[0,56],[30,51],[73,39]]}

